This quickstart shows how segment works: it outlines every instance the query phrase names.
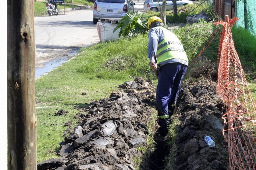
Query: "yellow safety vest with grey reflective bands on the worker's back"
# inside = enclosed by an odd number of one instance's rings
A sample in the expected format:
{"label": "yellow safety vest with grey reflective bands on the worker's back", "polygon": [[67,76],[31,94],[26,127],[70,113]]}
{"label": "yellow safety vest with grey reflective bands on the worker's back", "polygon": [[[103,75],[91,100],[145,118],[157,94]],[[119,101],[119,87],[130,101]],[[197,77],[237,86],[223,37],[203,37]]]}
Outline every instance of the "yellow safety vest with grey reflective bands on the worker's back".
{"label": "yellow safety vest with grey reflective bands on the worker's back", "polygon": [[161,27],[161,29],[164,33],[164,40],[157,45],[157,64],[173,58],[188,62],[188,57],[178,37],[163,27]]}

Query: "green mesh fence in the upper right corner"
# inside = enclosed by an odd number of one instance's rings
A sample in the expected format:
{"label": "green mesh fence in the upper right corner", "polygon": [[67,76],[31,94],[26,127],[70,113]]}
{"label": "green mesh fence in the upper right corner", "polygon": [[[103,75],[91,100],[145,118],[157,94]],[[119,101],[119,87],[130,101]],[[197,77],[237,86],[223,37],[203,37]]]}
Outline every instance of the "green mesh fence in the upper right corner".
{"label": "green mesh fence in the upper right corner", "polygon": [[237,1],[237,18],[240,18],[236,24],[248,29],[251,34],[256,36],[256,1],[255,0],[238,0]]}

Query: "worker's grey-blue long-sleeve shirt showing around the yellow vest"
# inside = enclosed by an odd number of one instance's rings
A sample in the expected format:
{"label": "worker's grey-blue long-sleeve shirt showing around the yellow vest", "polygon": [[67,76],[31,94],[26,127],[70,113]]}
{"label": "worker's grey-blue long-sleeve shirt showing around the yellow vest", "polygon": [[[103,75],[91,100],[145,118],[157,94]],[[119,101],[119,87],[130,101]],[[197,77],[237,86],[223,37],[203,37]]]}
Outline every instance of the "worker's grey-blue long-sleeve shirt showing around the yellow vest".
{"label": "worker's grey-blue long-sleeve shirt showing around the yellow vest", "polygon": [[[157,45],[164,40],[164,32],[160,28],[160,26],[153,27],[152,29],[149,30],[148,37],[149,37],[149,43],[147,44],[147,56],[149,58],[149,63],[150,63],[152,62],[153,56],[156,56]],[[156,57],[155,57],[155,60],[157,62]],[[173,59],[169,59],[164,62],[161,62],[161,65],[159,66],[162,66],[163,64],[167,64],[167,63],[181,63],[188,66],[187,61],[181,60],[178,58],[173,58]]]}

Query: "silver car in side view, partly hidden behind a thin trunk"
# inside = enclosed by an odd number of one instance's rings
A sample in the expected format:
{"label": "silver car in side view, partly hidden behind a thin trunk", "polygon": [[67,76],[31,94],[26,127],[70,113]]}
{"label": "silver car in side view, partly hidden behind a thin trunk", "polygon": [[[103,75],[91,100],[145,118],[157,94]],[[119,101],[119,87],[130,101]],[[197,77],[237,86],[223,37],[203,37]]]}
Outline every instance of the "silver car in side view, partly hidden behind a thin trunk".
{"label": "silver car in side view, partly hidden behind a thin trunk", "polygon": [[[162,9],[162,5],[163,5],[163,0],[146,0],[144,2],[144,10],[151,10],[151,11],[155,11],[158,12],[160,11],[160,7]],[[181,7],[182,5],[187,5],[187,4],[193,4],[192,1],[190,0],[177,0],[177,7]],[[173,9],[173,1],[172,0],[166,0],[166,11],[168,10],[172,10]]]}

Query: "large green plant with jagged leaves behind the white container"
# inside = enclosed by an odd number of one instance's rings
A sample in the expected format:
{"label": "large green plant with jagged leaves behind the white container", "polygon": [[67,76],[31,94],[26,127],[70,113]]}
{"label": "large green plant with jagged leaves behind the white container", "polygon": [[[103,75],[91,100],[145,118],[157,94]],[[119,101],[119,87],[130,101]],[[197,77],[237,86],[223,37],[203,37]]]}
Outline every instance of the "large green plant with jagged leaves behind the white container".
{"label": "large green plant with jagged leaves behind the white container", "polygon": [[132,37],[138,33],[147,33],[147,16],[138,13],[127,13],[114,28],[113,33],[120,28],[119,37]]}

